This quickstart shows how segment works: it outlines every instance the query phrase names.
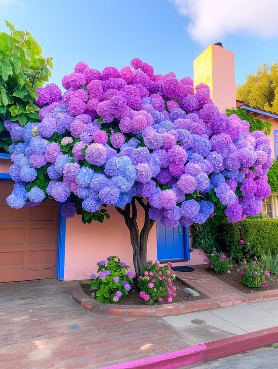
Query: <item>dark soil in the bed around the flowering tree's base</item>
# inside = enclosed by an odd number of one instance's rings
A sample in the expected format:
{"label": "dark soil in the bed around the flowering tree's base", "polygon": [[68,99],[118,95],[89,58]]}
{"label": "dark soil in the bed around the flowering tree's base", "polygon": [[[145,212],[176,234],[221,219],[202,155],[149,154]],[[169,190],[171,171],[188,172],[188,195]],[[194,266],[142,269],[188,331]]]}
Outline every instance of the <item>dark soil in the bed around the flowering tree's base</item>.
{"label": "dark soil in the bed around the flowering tree's base", "polygon": [[[91,297],[91,293],[92,290],[90,289],[90,285],[89,284],[85,284],[85,283],[80,283],[83,291],[85,292],[86,295],[88,295],[89,297]],[[187,294],[184,292],[184,288],[185,287],[190,287],[191,286],[183,283],[181,280],[177,279],[174,283],[174,286],[176,286],[177,290],[176,290],[176,297],[173,297],[173,301],[172,302],[181,302],[181,301],[187,301]],[[195,291],[197,291],[196,289],[194,289]],[[139,297],[139,288],[138,286],[135,286],[134,290],[131,290],[129,292],[129,294],[127,296],[122,296],[118,302],[116,302],[117,305],[146,305],[144,300]],[[198,291],[199,292],[199,291]],[[190,295],[189,297],[189,301],[195,301],[195,300],[202,300],[202,299],[206,299],[207,296],[200,293],[199,292],[199,296],[198,297],[193,297]],[[93,297],[94,298],[94,297]],[[158,303],[154,303],[153,305],[159,305]]]}

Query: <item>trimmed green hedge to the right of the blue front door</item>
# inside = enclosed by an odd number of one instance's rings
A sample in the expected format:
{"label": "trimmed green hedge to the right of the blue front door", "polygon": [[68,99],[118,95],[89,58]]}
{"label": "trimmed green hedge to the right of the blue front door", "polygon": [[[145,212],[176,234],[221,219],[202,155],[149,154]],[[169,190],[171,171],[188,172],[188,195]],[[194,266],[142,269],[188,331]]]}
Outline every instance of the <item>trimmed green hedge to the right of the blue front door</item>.
{"label": "trimmed green hedge to the right of the blue front door", "polygon": [[[214,217],[213,217],[214,218]],[[208,219],[192,229],[193,247],[210,253],[215,247],[235,260],[278,254],[278,219],[246,219],[238,223]],[[244,240],[240,243],[239,240]]]}

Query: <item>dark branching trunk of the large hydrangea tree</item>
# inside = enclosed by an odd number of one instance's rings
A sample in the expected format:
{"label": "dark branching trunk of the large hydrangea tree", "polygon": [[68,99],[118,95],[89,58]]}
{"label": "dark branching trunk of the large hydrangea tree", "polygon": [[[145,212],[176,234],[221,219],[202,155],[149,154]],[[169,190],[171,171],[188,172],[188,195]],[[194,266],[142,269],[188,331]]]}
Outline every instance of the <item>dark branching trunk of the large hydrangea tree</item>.
{"label": "dark branching trunk of the large hydrangea tree", "polygon": [[[137,224],[137,207],[135,199],[138,204],[142,206],[145,212],[144,225],[141,231],[139,231]],[[142,197],[138,196],[132,198],[131,203],[127,204],[124,210],[116,208],[119,214],[123,216],[125,224],[130,232],[130,241],[133,248],[133,264],[137,278],[142,275],[143,269],[147,264],[148,237],[150,230],[155,223],[155,221],[149,218],[149,208],[149,203],[145,204]]]}

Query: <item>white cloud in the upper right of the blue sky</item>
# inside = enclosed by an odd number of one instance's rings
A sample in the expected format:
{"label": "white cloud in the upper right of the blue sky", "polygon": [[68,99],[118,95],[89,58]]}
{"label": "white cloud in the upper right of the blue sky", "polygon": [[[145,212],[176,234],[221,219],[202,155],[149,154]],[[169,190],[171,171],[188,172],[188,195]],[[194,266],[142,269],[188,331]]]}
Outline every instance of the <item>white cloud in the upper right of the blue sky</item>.
{"label": "white cloud in the upper right of the blue sky", "polygon": [[278,36],[278,0],[171,0],[189,18],[187,30],[202,45],[227,35]]}

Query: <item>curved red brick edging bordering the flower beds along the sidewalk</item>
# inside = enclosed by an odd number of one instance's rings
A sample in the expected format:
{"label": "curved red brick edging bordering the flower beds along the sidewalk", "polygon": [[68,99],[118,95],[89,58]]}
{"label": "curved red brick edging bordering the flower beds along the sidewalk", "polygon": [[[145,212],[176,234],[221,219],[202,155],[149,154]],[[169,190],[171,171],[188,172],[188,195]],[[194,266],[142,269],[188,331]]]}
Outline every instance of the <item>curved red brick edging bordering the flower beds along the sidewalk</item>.
{"label": "curved red brick edging bordering the flower beds along the sidewalk", "polygon": [[103,304],[94,298],[88,297],[88,295],[86,295],[82,290],[82,287],[80,286],[78,281],[75,285],[70,287],[70,294],[72,295],[73,299],[79,304],[79,306],[81,306],[82,309],[86,311],[91,311],[93,313],[122,317],[157,317],[180,315],[193,311],[274,299],[278,298],[278,289],[262,291],[260,293],[246,294],[246,297],[238,295],[231,298],[208,298],[205,300],[174,302],[153,306]]}

